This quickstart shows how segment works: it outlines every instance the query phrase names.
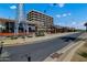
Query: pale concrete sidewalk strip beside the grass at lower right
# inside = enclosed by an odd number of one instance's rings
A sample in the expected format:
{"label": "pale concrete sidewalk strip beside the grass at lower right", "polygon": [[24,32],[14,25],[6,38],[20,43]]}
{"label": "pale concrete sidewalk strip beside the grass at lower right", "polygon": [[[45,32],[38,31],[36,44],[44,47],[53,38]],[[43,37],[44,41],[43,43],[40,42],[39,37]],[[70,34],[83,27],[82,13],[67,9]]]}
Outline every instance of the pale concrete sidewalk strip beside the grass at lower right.
{"label": "pale concrete sidewalk strip beside the grass at lower right", "polygon": [[58,62],[70,62],[74,53],[85,44],[85,42],[79,41],[76,43],[75,46],[73,46],[72,48],[69,48],[67,52],[64,53],[64,55],[62,55],[57,61]]}

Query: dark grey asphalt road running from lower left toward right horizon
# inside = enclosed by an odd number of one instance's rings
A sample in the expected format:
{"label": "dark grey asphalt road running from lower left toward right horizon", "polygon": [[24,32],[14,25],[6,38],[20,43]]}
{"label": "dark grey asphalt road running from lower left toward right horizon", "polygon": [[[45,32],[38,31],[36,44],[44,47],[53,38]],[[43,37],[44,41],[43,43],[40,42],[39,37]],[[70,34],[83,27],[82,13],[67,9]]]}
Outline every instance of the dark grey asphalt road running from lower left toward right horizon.
{"label": "dark grey asphalt road running from lower left toward right horizon", "polygon": [[[77,37],[81,33],[74,33],[65,36]],[[7,51],[10,54],[8,59],[10,62],[26,62],[29,56],[31,56],[31,62],[42,62],[50,54],[63,48],[72,41],[74,41],[74,40],[66,41],[65,39],[62,37],[56,37],[53,40],[39,43],[36,42],[36,44],[4,47],[4,51]]]}

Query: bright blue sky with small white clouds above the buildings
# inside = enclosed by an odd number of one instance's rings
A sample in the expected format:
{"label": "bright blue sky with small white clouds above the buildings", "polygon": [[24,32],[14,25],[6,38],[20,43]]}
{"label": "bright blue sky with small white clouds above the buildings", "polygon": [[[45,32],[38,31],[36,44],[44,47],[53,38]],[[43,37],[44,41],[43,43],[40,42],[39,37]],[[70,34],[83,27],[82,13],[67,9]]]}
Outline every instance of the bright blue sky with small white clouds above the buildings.
{"label": "bright blue sky with small white clouds above the buildings", "polygon": [[[17,7],[17,3],[0,3],[0,18],[15,19]],[[31,10],[53,17],[55,25],[85,29],[87,22],[87,3],[24,3],[25,15]]]}

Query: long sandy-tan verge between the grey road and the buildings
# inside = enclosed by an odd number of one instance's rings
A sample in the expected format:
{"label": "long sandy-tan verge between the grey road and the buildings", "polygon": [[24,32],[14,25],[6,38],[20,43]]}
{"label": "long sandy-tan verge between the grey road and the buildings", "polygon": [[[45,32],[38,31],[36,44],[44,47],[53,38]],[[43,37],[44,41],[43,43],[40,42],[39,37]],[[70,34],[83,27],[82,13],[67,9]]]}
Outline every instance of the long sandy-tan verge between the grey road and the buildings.
{"label": "long sandy-tan verge between the grey road and the buildings", "polygon": [[[12,37],[6,37],[1,40],[0,42],[4,42],[4,46],[12,46],[12,45],[22,45],[22,44],[32,44],[34,42],[41,42],[41,41],[46,41],[50,39],[55,39],[58,36],[67,35],[67,34],[74,34],[75,32],[72,33],[57,33],[57,34],[46,34],[45,36],[33,36],[33,37],[28,37],[28,36],[22,36],[18,39],[12,39]],[[76,32],[77,33],[77,32]]]}

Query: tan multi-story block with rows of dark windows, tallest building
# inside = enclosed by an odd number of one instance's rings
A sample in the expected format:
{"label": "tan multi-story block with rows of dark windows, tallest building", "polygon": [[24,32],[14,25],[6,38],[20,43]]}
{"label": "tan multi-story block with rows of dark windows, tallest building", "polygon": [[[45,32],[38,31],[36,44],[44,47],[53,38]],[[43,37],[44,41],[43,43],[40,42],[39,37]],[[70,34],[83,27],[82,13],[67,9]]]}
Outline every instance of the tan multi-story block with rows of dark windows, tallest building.
{"label": "tan multi-story block with rows of dark windows, tallest building", "polygon": [[48,30],[53,25],[53,18],[39,11],[30,11],[26,19],[36,24],[37,30]]}

